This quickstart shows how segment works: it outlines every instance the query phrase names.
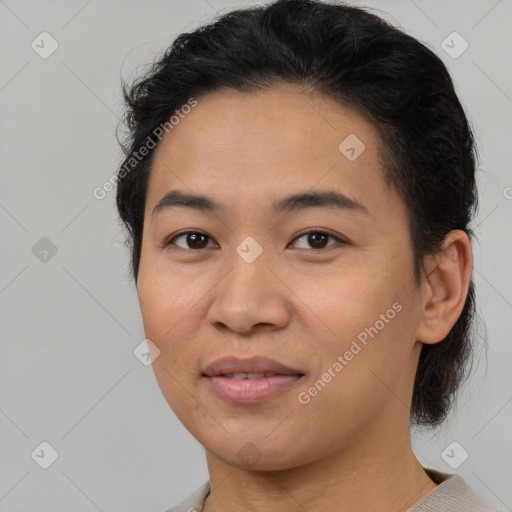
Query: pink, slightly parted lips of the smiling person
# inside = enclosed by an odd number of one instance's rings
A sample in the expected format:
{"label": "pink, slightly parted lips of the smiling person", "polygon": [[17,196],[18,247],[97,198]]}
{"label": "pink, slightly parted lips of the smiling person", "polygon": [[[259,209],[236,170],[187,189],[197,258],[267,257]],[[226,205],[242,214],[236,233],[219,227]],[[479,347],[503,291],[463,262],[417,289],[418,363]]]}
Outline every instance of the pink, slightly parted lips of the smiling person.
{"label": "pink, slightly parted lips of the smiling person", "polygon": [[[242,378],[240,374],[243,373],[273,375]],[[217,397],[231,404],[246,405],[263,402],[294,387],[302,381],[304,373],[267,357],[240,359],[229,356],[208,365],[203,377]]]}

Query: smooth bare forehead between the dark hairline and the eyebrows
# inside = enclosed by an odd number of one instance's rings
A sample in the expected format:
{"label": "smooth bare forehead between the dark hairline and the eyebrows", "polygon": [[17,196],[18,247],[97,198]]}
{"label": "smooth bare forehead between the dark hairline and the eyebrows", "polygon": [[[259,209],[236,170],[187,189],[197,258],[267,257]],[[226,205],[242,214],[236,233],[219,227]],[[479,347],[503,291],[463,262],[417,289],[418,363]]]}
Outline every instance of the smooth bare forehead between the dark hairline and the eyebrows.
{"label": "smooth bare forehead between the dark hairline and the eyebrows", "polygon": [[198,98],[164,134],[147,209],[173,188],[243,207],[284,189],[315,187],[334,187],[379,209],[386,200],[379,194],[389,195],[380,154],[372,124],[324,95],[287,85],[250,93],[223,89]]}

